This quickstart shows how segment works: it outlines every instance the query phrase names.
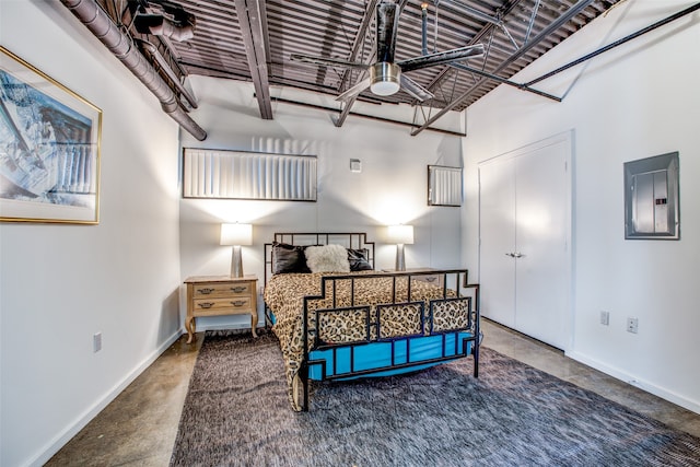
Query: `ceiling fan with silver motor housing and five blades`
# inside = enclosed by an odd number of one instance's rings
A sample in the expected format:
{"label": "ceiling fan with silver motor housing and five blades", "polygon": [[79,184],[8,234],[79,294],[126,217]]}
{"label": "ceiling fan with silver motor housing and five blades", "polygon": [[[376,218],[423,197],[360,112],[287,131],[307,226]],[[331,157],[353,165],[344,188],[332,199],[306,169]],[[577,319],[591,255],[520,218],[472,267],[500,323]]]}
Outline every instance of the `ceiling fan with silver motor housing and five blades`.
{"label": "ceiling fan with silver motor housing and five blades", "polygon": [[397,9],[397,4],[389,1],[382,1],[376,8],[376,62],[374,63],[368,65],[334,58],[313,57],[304,54],[291,54],[290,59],[306,63],[358,68],[370,71],[369,78],[340,94],[336,97],[337,101],[347,101],[355,97],[369,87],[373,94],[380,96],[395,94],[400,89],[418,101],[423,102],[433,97],[432,93],[404,74],[405,72],[483,55],[483,45],[477,44],[394,61],[396,31],[398,28]]}

